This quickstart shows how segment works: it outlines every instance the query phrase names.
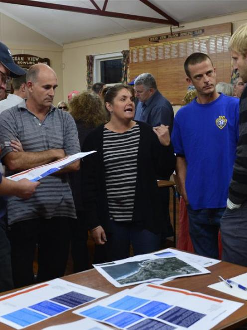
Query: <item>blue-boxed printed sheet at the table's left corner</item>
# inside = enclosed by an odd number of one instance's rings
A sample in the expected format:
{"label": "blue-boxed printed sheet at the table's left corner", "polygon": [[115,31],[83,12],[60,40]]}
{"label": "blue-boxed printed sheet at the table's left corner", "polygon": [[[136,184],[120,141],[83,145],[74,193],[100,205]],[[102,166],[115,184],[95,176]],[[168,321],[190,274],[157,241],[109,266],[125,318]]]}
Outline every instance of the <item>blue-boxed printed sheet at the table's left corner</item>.
{"label": "blue-boxed printed sheet at the table's left corner", "polygon": [[0,322],[22,329],[106,295],[102,291],[54,279],[1,296]]}

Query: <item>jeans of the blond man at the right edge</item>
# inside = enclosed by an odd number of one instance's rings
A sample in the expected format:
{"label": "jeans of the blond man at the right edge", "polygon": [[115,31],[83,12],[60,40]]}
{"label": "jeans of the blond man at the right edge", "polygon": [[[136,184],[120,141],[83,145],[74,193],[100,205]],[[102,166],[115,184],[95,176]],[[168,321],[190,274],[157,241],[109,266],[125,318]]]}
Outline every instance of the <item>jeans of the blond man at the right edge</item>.
{"label": "jeans of the blond man at the right edge", "polygon": [[247,203],[226,209],[221,219],[222,260],[247,266]]}

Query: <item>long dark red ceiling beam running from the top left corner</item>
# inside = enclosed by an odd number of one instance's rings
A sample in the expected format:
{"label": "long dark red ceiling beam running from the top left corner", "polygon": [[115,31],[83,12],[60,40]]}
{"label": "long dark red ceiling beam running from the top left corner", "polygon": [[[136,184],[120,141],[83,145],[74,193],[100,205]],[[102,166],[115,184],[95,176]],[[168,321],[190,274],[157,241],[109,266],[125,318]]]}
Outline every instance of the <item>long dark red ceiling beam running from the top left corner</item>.
{"label": "long dark red ceiling beam running from the top left corner", "polygon": [[[112,12],[112,11],[105,11],[105,10],[99,10],[99,9],[88,9],[88,8],[81,8],[81,7],[69,6],[69,5],[63,5],[63,4],[41,2],[41,1],[0,0],[0,2],[26,5],[26,6],[30,6],[30,7],[71,11],[71,12],[84,13],[84,14],[89,14],[89,15],[97,15],[97,16],[103,16],[103,17],[137,20],[137,21],[149,22],[149,23],[155,23],[155,24],[174,25],[174,20],[171,21],[170,19],[160,19],[160,18],[152,18],[152,17],[145,17],[145,16],[139,16],[139,15],[130,15],[130,14],[124,14],[124,13],[120,13],[120,12]],[[106,3],[107,2],[105,1],[104,6]],[[177,22],[176,22],[176,25],[178,25]]]}

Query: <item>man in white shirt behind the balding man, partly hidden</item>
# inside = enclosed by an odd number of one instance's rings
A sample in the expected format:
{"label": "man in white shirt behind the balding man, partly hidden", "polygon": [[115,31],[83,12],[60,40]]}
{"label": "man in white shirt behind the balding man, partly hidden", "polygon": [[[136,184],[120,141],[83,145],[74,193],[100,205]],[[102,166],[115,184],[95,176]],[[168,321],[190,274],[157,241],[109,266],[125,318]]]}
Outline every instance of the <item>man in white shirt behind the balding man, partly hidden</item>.
{"label": "man in white shirt behind the balding man, partly hidden", "polygon": [[[23,69],[28,71],[27,69]],[[0,114],[2,111],[12,108],[13,106],[19,104],[24,98],[27,98],[27,87],[26,87],[26,74],[12,78],[11,84],[14,89],[13,94],[8,94],[5,100],[0,101]]]}

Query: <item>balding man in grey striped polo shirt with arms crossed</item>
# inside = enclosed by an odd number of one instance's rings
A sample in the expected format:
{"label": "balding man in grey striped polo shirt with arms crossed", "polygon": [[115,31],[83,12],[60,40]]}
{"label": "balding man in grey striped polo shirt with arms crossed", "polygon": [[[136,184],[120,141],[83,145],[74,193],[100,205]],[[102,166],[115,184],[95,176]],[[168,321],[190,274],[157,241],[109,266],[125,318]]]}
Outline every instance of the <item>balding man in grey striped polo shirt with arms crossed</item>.
{"label": "balding man in grey striped polo shirt with arms crossed", "polygon": [[[80,152],[78,133],[71,115],[52,105],[57,87],[55,72],[45,64],[33,65],[26,76],[28,98],[0,120],[2,159],[7,170],[19,172]],[[19,139],[23,151],[14,152],[9,141]],[[79,161],[42,179],[28,200],[8,200],[9,239],[16,287],[34,282],[33,259],[38,246],[38,281],[64,275],[72,218],[76,218],[67,173]]]}

